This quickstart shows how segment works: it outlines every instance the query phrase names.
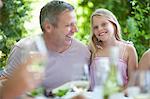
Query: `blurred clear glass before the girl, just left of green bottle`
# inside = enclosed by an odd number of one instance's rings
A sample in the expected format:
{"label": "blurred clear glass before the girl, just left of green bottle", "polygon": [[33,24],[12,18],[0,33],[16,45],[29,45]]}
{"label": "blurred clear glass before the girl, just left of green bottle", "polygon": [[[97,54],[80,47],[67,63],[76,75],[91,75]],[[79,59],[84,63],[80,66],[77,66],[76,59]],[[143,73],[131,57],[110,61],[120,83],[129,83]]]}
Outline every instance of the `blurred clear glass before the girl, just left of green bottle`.
{"label": "blurred clear glass before the girl, just left of green bottle", "polygon": [[109,69],[109,58],[101,57],[100,59],[94,60],[93,97],[96,99],[103,99],[103,86],[108,76]]}

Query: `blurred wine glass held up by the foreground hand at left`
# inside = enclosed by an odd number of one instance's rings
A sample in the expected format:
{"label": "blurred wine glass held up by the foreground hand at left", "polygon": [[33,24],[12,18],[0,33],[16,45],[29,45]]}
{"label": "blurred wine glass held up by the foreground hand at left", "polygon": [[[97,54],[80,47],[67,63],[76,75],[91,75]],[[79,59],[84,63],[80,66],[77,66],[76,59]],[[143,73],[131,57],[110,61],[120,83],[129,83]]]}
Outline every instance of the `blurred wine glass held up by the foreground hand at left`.
{"label": "blurred wine glass held up by the foreground hand at left", "polygon": [[[27,92],[28,96],[42,95],[42,81],[44,79],[44,71],[47,64],[47,49],[42,37],[35,37],[33,41],[27,41],[22,54],[27,59],[31,59],[32,63],[27,66],[27,70],[32,73],[36,88]],[[36,93],[36,94],[35,94]]]}

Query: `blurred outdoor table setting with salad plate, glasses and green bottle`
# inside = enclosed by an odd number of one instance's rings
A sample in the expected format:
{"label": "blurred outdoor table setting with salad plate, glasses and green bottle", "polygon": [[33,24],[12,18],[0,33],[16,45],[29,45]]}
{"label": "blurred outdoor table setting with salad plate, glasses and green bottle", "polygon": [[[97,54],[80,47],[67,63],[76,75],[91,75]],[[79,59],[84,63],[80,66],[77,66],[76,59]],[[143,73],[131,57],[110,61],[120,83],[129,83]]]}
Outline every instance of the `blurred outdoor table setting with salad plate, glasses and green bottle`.
{"label": "blurred outdoor table setting with salad plate, glasses and green bottle", "polygon": [[[32,52],[32,55],[33,54]],[[35,68],[38,66],[37,63],[31,66],[35,71],[41,70]],[[131,81],[129,81],[129,86],[125,90],[122,90],[119,88],[123,86],[123,84],[120,76],[118,77],[120,74],[115,67],[116,64],[111,64],[110,72],[108,72],[106,68],[108,66],[108,58],[105,58],[103,61],[102,59],[98,61],[97,68],[94,71],[96,79],[92,91],[89,91],[91,79],[89,77],[88,64],[84,64],[82,66],[83,73],[81,75],[74,75],[70,82],[66,82],[51,90],[53,96],[45,97],[41,94],[41,91],[40,95],[34,97],[27,95],[29,98],[23,99],[150,99],[150,71],[134,72]],[[44,68],[44,66],[40,65],[39,67]],[[41,72],[39,72],[39,75],[40,74]],[[105,95],[107,95],[107,98]]]}

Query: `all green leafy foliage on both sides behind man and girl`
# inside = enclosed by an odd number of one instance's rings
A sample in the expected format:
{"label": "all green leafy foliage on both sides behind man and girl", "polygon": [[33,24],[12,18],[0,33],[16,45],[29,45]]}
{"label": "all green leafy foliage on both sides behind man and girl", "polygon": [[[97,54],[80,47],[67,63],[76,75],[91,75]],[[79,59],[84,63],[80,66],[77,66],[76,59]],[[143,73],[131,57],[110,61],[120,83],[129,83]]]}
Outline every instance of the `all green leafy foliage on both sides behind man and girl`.
{"label": "all green leafy foliage on both sides behind man and girl", "polygon": [[[14,43],[27,35],[24,22],[31,18],[32,0],[3,0],[0,11],[0,67],[5,66]],[[32,1],[32,2],[31,2]],[[139,58],[150,48],[150,1],[149,0],[77,0],[76,13],[79,32],[75,37],[87,44],[90,37],[90,15],[97,8],[112,11],[122,28],[124,40],[132,41]]]}

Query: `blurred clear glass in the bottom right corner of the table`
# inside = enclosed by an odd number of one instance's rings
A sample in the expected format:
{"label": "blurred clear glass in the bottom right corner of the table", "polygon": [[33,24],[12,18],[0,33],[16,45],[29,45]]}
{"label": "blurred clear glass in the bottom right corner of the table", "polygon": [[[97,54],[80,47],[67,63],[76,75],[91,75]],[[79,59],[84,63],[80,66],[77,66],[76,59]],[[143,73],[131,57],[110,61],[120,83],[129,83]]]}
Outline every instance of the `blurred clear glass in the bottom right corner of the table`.
{"label": "blurred clear glass in the bottom right corner of the table", "polygon": [[[129,81],[127,90],[128,90],[128,94],[134,97],[139,97],[141,95],[145,97],[149,95],[150,94],[150,71],[149,70],[135,71]],[[130,90],[135,90],[135,91],[130,91]]]}

